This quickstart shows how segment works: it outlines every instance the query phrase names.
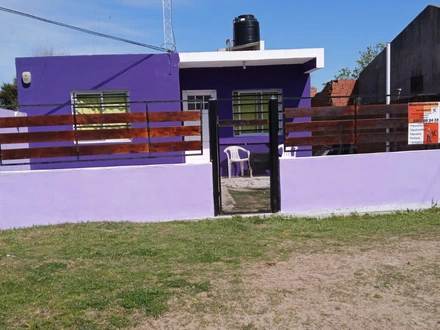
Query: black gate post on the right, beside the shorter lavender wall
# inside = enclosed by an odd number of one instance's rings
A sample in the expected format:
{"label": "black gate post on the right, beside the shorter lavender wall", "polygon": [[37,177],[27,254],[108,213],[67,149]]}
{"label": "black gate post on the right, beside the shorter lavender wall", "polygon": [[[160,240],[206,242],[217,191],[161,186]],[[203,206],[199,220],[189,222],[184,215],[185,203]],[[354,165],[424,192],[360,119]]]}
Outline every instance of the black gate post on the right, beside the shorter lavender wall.
{"label": "black gate post on the right, beside the shorter lavender wall", "polygon": [[270,207],[273,213],[281,210],[280,163],[278,159],[278,99],[269,101],[269,152],[270,152]]}

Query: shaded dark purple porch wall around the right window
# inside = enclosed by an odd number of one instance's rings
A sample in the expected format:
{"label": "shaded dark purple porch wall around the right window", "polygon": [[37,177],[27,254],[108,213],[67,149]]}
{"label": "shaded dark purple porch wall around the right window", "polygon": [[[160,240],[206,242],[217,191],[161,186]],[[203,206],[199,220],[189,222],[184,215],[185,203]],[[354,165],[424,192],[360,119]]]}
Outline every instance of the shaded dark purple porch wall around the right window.
{"label": "shaded dark purple porch wall around the right window", "polygon": [[[220,119],[232,119],[231,98],[232,92],[236,90],[280,89],[283,98],[297,98],[285,100],[283,108],[311,105],[310,99],[298,99],[310,97],[310,74],[304,73],[303,65],[247,66],[246,70],[242,67],[182,69],[180,70],[180,86],[182,90],[216,90]],[[226,155],[223,152],[227,145],[245,144],[242,146],[251,152],[268,152],[268,134],[234,137],[233,128],[220,127],[219,135],[220,143],[223,144],[220,147],[220,174],[222,176],[227,175]],[[257,145],[249,145],[249,143],[257,143]],[[282,136],[280,136],[280,143],[283,143]],[[311,153],[299,150],[297,155],[304,157]],[[237,175],[234,166],[232,173]]]}

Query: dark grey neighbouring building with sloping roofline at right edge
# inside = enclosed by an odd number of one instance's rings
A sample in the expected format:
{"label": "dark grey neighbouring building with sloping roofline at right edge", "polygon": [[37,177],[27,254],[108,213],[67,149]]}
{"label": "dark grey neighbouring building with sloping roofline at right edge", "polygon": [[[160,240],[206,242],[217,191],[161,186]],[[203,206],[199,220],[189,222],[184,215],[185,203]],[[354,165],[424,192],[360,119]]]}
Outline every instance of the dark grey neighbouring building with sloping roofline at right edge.
{"label": "dark grey neighbouring building with sloping roofline at right edge", "polygon": [[[439,93],[439,63],[440,7],[429,5],[391,42],[391,94],[407,98]],[[383,50],[360,73],[358,92],[368,95],[365,102],[385,102],[385,73],[386,51]]]}

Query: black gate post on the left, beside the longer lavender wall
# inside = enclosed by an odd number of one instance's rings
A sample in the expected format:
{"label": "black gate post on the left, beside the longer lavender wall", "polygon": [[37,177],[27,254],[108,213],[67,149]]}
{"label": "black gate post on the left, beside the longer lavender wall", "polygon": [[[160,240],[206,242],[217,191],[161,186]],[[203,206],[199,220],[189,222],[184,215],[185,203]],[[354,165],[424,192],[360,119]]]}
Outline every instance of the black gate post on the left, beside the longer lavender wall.
{"label": "black gate post on the left, beside the longer lavender wall", "polygon": [[209,113],[209,150],[212,163],[212,182],[214,193],[214,215],[220,214],[221,206],[221,185],[220,185],[220,163],[218,151],[218,100],[210,99],[208,106]]}

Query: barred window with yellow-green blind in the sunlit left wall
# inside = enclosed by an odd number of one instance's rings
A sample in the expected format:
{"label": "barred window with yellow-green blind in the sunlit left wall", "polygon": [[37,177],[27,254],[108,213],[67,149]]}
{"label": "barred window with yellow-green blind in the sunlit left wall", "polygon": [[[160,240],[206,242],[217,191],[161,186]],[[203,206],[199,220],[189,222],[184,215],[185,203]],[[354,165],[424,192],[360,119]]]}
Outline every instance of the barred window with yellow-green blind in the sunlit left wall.
{"label": "barred window with yellow-green blind in the sunlit left wall", "polygon": [[[72,93],[73,111],[77,115],[127,113],[128,93],[119,91]],[[127,123],[77,125],[78,130],[128,128]]]}

